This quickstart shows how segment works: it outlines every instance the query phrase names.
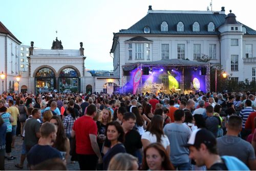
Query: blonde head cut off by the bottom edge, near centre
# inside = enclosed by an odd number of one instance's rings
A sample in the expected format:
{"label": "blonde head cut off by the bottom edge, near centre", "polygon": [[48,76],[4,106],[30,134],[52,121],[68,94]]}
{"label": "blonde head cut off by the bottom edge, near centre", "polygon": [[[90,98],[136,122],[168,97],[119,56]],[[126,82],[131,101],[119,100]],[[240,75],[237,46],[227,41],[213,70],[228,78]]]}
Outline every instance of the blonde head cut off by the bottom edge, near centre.
{"label": "blonde head cut off by the bottom edge, near centre", "polygon": [[138,170],[138,159],[128,153],[116,154],[109,163],[108,170]]}

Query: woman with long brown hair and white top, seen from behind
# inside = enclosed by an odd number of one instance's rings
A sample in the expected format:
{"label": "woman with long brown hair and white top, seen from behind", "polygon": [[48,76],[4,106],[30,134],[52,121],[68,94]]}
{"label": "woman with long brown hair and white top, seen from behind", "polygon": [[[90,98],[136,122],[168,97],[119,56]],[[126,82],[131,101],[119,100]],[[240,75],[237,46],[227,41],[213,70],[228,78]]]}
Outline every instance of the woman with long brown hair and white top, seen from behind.
{"label": "woman with long brown hair and white top, seen from behind", "polygon": [[146,148],[151,143],[159,142],[165,148],[167,154],[170,153],[169,140],[163,132],[163,117],[160,115],[155,115],[151,122],[147,125],[146,132],[141,136],[141,142],[143,149]]}

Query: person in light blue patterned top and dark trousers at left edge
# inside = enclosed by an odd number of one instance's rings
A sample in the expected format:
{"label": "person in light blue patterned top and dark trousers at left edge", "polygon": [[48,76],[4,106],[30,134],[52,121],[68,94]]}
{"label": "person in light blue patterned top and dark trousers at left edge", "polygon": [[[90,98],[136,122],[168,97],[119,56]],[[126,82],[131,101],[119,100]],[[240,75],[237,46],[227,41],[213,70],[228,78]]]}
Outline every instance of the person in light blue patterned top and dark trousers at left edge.
{"label": "person in light blue patterned top and dark trousers at left edge", "polygon": [[12,144],[12,122],[14,122],[14,118],[11,116],[10,113],[7,112],[7,108],[6,106],[2,106],[0,108],[0,115],[3,118],[3,120],[5,121],[6,125],[7,125],[7,130],[6,130],[6,154],[7,154],[7,159],[8,160],[14,160],[16,159],[16,157],[13,157],[11,152],[11,144]]}

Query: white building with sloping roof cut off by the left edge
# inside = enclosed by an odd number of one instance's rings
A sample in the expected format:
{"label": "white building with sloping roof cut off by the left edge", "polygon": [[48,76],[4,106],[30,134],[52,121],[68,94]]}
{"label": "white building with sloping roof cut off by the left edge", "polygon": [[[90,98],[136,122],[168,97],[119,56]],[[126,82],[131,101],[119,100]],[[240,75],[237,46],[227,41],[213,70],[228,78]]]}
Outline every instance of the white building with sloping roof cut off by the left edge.
{"label": "white building with sloping roof cut off by the left edge", "polygon": [[[5,74],[1,80],[0,92],[16,91],[16,76],[19,74],[19,45],[22,44],[1,22],[0,22],[0,74]],[[4,81],[4,85],[2,85]],[[4,87],[4,88],[3,88]]]}

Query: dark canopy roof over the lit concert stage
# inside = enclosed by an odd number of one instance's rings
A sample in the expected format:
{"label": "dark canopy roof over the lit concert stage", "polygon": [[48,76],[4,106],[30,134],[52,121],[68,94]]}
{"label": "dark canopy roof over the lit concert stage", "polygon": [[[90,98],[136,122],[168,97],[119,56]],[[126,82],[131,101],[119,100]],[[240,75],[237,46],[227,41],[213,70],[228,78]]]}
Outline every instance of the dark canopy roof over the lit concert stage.
{"label": "dark canopy roof over the lit concert stage", "polygon": [[165,60],[157,60],[157,61],[143,61],[143,62],[135,62],[129,63],[122,66],[123,71],[131,71],[134,70],[138,65],[142,65],[142,67],[205,67],[207,62],[198,62],[193,60],[184,60],[184,59],[165,59]]}

